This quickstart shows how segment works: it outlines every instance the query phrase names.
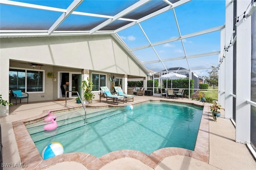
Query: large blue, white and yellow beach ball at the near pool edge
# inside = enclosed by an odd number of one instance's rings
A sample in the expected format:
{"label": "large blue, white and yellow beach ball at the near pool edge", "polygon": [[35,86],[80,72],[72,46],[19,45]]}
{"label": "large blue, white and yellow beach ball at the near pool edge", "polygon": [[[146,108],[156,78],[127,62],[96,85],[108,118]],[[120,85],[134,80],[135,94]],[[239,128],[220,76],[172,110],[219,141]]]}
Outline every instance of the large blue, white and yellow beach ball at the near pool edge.
{"label": "large blue, white and yellow beach ball at the near pool edge", "polygon": [[45,146],[44,150],[42,151],[43,159],[48,159],[53,156],[61,155],[64,152],[64,148],[60,142],[52,142]]}

